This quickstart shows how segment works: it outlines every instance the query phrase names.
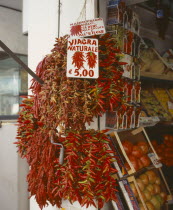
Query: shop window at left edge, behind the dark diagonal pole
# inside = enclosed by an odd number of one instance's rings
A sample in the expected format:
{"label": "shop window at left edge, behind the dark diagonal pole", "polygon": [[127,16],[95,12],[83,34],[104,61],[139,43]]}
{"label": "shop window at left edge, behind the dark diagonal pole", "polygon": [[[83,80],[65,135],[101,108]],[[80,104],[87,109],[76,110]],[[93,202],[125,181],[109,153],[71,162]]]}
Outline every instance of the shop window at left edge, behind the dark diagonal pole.
{"label": "shop window at left edge, behind the dark diagonal pole", "polygon": [[[27,64],[27,56],[18,57]],[[27,72],[13,58],[0,52],[0,120],[17,118],[22,101],[20,96],[26,96],[27,89]]]}

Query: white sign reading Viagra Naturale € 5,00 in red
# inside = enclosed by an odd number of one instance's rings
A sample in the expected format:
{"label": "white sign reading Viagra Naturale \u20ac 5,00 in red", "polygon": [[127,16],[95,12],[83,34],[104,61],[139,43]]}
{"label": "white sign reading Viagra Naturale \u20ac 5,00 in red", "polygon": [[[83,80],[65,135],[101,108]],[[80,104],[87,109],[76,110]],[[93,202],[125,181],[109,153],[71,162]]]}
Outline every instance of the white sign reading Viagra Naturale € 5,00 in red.
{"label": "white sign reading Viagra Naturale \u20ac 5,00 in red", "polygon": [[98,78],[98,69],[98,40],[68,39],[67,77]]}

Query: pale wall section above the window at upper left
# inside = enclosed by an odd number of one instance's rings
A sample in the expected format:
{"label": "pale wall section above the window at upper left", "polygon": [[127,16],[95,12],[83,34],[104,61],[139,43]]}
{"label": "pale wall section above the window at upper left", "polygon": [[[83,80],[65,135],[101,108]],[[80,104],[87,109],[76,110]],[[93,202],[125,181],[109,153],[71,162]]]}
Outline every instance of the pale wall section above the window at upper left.
{"label": "pale wall section above the window at upper left", "polygon": [[22,34],[21,12],[0,7],[0,29],[1,40],[13,52],[27,54],[27,37]]}

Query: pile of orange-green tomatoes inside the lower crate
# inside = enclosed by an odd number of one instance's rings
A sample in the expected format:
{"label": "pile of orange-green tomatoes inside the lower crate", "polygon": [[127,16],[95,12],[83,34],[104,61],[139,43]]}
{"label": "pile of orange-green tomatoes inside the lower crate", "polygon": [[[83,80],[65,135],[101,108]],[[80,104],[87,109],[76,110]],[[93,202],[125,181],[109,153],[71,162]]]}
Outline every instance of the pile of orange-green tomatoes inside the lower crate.
{"label": "pile of orange-green tomatoes inside the lower crate", "polygon": [[[148,210],[159,210],[167,201],[167,193],[164,189],[159,172],[156,170],[148,170],[136,178],[141,196]],[[140,209],[143,209],[139,194],[131,184],[131,189],[139,201]]]}

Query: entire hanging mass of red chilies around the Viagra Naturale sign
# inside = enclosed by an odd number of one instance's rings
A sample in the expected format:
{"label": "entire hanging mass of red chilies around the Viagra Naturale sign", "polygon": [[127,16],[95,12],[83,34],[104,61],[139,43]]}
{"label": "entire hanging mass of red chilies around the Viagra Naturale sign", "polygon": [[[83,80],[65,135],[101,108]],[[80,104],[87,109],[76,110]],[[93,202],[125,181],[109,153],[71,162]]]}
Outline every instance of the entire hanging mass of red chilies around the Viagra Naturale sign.
{"label": "entire hanging mass of red chilies around the Viagra Naturale sign", "polygon": [[[99,78],[67,78],[67,38],[58,38],[52,53],[37,66],[36,73],[44,84],[33,80],[34,97],[24,101],[18,127],[19,153],[30,165],[28,189],[41,209],[47,201],[60,207],[62,199],[87,206],[97,205],[95,200],[101,208],[104,202],[116,200],[112,176],[116,171],[111,166],[106,135],[86,131],[85,125],[94,116],[123,106],[124,63],[119,62],[116,41],[105,34],[97,37]],[[51,144],[50,134],[65,147],[63,165],[58,163],[59,148]]]}

